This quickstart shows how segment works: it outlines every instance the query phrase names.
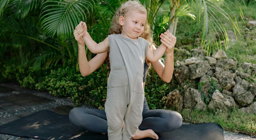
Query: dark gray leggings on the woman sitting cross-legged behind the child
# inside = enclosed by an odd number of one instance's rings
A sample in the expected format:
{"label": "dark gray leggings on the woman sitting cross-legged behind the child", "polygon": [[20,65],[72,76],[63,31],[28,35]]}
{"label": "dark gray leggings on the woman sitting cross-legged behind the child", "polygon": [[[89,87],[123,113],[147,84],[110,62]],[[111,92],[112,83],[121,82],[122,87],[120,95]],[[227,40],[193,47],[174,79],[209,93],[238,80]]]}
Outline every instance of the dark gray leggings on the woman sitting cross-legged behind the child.
{"label": "dark gray leggings on the woman sitting cross-legged behind the child", "polygon": [[[182,124],[182,116],[176,111],[149,110],[145,97],[142,118],[139,129],[152,129],[155,133],[172,131]],[[107,133],[108,125],[105,110],[76,107],[70,111],[69,120],[90,132]]]}

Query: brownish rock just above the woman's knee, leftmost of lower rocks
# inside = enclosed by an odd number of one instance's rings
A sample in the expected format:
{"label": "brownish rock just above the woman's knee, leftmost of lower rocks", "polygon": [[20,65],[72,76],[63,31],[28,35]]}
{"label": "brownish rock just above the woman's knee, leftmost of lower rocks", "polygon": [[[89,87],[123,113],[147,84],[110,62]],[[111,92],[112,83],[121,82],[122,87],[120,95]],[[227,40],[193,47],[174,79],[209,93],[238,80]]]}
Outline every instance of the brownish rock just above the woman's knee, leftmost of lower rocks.
{"label": "brownish rock just above the woman's knee, leftmost of lower rocks", "polygon": [[168,94],[165,106],[172,110],[182,110],[183,97],[180,95],[179,90],[175,89]]}

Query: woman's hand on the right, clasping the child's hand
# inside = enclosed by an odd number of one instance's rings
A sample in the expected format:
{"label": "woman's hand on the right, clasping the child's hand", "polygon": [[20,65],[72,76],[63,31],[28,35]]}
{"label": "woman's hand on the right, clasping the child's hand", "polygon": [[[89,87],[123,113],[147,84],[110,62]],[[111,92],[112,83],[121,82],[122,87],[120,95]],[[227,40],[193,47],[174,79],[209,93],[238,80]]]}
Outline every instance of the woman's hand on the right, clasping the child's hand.
{"label": "woman's hand on the right, clasping the child's hand", "polygon": [[167,30],[167,32],[160,35],[160,38],[160,41],[167,47],[165,51],[166,55],[169,53],[173,53],[174,46],[176,44],[176,37],[169,33],[169,30]]}

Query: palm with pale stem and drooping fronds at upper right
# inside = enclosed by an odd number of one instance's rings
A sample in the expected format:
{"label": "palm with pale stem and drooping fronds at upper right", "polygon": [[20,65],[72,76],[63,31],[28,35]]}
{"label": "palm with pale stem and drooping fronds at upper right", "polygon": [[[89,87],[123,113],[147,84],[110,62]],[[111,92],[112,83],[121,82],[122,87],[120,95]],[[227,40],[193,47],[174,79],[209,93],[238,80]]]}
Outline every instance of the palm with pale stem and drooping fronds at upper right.
{"label": "palm with pale stem and drooping fronds at upper right", "polygon": [[[222,21],[217,16],[217,13],[220,13],[222,16],[226,17],[234,29],[235,35],[240,34],[239,27],[237,24],[236,17],[234,12],[229,10],[233,15],[229,15],[225,12],[220,6],[226,7],[219,0],[168,0],[170,2],[170,18],[169,18],[169,30],[175,35],[178,18],[180,16],[190,16],[192,19],[197,17],[199,27],[202,28],[201,35],[201,48],[206,50],[206,54],[210,55],[213,47],[215,52],[215,47],[222,50],[221,39],[223,38],[225,49],[229,47],[229,39],[227,31],[222,24]],[[241,19],[244,21],[244,15],[241,9],[240,1],[235,0],[233,2],[229,1],[231,4],[237,7],[238,12],[240,13]],[[243,0],[244,2],[244,0]],[[226,7],[229,9],[228,7]],[[203,18],[201,18],[201,12],[203,11]],[[195,12],[194,14],[191,14]],[[201,20],[203,25],[201,25]],[[202,26],[202,27],[201,27]],[[220,35],[219,33],[220,32]],[[217,35],[216,35],[217,34]]]}

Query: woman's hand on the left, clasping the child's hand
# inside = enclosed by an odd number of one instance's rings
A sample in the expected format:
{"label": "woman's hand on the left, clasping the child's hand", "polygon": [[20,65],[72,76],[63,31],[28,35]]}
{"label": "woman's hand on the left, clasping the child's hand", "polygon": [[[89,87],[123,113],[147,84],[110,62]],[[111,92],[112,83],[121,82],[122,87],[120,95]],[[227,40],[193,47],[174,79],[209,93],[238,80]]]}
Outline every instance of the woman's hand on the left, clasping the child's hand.
{"label": "woman's hand on the left, clasping the child's hand", "polygon": [[74,36],[78,44],[84,45],[85,42],[82,38],[82,36],[87,32],[86,24],[82,21],[76,26],[76,29],[74,30]]}

